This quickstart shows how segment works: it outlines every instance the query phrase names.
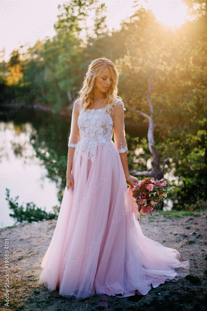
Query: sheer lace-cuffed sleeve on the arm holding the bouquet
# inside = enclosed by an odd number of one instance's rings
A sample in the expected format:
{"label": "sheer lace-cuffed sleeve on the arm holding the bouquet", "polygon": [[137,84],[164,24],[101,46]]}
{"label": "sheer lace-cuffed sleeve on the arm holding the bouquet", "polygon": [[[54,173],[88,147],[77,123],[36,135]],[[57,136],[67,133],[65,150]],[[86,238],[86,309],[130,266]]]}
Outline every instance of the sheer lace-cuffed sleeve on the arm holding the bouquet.
{"label": "sheer lace-cuffed sleeve on the arm holding the bouquet", "polygon": [[124,130],[124,110],[124,104],[121,100],[113,106],[114,143],[117,145],[119,153],[128,150]]}

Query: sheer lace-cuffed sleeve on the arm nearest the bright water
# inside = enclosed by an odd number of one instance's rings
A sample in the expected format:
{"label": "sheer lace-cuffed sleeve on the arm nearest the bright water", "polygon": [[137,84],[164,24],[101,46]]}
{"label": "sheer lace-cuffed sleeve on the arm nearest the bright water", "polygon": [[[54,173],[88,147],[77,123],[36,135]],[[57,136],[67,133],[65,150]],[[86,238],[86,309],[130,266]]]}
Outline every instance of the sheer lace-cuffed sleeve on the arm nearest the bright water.
{"label": "sheer lace-cuffed sleeve on the arm nearest the bright water", "polygon": [[78,100],[76,100],[73,104],[68,147],[76,147],[77,142],[79,142],[81,138],[78,123],[77,123],[78,116],[79,116],[79,103],[78,103]]}

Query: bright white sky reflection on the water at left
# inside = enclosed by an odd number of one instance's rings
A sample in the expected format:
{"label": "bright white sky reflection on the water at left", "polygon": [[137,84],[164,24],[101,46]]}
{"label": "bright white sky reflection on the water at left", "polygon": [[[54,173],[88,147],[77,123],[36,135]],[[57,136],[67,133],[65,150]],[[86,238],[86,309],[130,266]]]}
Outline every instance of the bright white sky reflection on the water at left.
{"label": "bright white sky reflection on the water at left", "polygon": [[47,212],[59,205],[58,189],[55,181],[46,177],[48,171],[43,161],[36,157],[36,152],[30,142],[31,135],[37,131],[32,124],[14,124],[0,122],[0,197],[1,220],[0,227],[15,223],[9,213],[6,201],[6,188],[10,189],[10,197],[19,196],[18,203],[33,201],[37,207]]}

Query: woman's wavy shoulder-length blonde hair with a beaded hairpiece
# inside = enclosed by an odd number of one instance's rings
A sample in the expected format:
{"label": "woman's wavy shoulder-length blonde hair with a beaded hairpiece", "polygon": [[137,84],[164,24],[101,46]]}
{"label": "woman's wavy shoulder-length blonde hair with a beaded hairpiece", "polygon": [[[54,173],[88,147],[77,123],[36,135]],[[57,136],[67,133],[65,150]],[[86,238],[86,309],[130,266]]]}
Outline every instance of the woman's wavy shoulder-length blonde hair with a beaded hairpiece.
{"label": "woman's wavy shoulder-length blonde hair with a beaded hairpiece", "polygon": [[108,68],[111,70],[112,84],[108,88],[107,92],[103,93],[105,100],[102,103],[102,109],[103,109],[103,105],[107,102],[108,102],[107,108],[110,109],[112,108],[117,98],[121,100],[121,97],[117,96],[117,93],[118,93],[117,84],[119,81],[119,72],[116,66],[114,65],[114,63],[112,63],[112,61],[110,61],[110,59],[107,59],[107,58],[96,58],[90,63],[87,72],[91,73],[90,70],[93,70],[95,68],[97,68],[97,70],[95,70],[94,73],[92,72],[90,77],[86,75],[82,83],[81,90],[77,92],[80,95],[78,97],[78,100],[79,99],[81,100],[80,108],[83,108],[83,112],[85,112],[87,108],[90,109],[90,107],[93,106],[95,78],[98,77],[101,74],[102,70],[105,68]]}

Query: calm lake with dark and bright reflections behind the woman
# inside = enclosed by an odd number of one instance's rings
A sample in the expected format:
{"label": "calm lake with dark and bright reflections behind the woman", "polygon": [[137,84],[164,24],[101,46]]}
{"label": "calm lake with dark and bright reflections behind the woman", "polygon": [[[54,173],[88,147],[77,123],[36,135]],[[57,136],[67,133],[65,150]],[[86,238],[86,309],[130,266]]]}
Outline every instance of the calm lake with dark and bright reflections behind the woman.
{"label": "calm lake with dark and bright reflections behind the woman", "polygon": [[[50,148],[58,157],[68,155],[70,118],[51,112],[22,107],[8,117],[11,107],[0,107],[0,228],[12,226],[15,220],[9,216],[6,188],[10,197],[23,206],[34,202],[37,207],[53,212],[60,206],[58,192],[61,178],[49,178],[43,160],[36,156],[33,144],[38,141],[41,152]],[[147,124],[133,126],[126,120],[125,132],[131,137],[147,134]],[[129,146],[128,146],[129,147]],[[66,174],[66,169],[65,169]]]}

